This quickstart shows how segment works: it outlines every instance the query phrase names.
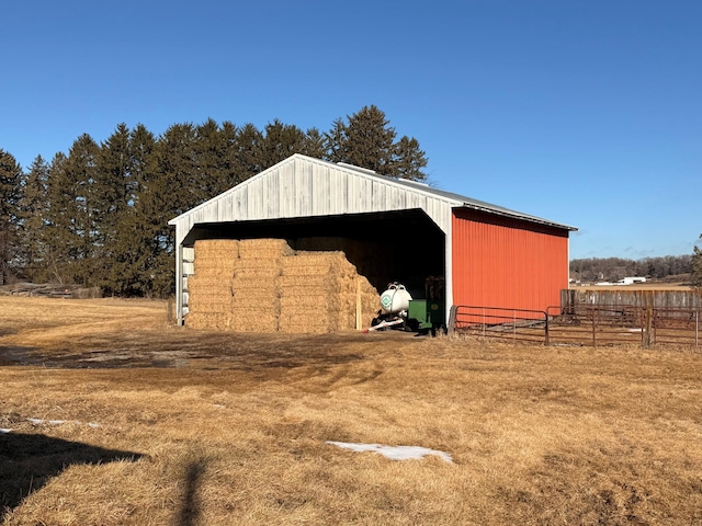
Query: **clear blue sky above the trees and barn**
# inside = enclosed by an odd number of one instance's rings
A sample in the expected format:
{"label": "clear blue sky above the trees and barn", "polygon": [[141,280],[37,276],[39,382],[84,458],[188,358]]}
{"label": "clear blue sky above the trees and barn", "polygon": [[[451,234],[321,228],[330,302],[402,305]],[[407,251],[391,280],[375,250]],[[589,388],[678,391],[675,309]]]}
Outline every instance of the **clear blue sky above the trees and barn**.
{"label": "clear blue sky above the trees and barn", "polygon": [[375,104],[432,184],[574,225],[571,258],[702,233],[702,2],[5,2],[0,148],[117,124],[329,129]]}

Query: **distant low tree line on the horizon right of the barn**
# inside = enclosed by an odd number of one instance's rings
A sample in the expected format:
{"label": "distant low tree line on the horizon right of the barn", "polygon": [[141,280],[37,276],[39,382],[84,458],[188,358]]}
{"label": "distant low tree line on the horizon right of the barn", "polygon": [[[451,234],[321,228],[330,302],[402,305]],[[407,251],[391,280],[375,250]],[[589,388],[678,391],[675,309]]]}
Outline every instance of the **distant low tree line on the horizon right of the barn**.
{"label": "distant low tree line on the horizon right of the barn", "polygon": [[[695,249],[695,252],[699,249]],[[590,258],[570,261],[571,277],[581,282],[618,282],[626,276],[663,279],[692,273],[695,255],[666,255],[627,260],[623,258]],[[687,277],[687,276],[686,276]]]}

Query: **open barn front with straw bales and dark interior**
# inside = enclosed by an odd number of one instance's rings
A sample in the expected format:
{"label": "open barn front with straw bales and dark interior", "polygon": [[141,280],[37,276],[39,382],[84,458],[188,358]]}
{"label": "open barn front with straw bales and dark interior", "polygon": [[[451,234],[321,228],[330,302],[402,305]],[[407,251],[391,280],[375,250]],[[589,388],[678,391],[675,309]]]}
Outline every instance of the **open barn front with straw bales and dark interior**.
{"label": "open barn front with straw bales and dark interior", "polygon": [[199,225],[188,277],[196,328],[333,332],[367,327],[388,283],[424,297],[445,236],[422,210]]}

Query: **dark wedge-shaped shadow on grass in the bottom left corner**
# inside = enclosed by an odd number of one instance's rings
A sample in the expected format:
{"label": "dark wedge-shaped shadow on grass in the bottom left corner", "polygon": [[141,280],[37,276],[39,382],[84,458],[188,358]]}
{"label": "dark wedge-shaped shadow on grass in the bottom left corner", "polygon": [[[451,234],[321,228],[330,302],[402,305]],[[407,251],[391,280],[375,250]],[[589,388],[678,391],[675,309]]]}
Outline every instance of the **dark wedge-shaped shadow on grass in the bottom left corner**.
{"label": "dark wedge-shaped shadow on grass in the bottom left corner", "polygon": [[45,435],[0,434],[0,522],[24,498],[72,465],[136,460],[143,455]]}

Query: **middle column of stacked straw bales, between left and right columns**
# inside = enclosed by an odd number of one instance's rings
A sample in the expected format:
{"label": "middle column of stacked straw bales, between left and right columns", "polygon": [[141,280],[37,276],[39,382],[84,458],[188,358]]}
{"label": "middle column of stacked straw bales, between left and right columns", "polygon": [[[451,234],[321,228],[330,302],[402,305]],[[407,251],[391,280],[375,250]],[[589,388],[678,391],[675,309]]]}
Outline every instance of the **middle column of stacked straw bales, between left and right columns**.
{"label": "middle column of stacked straw bales, between left and right columns", "polygon": [[239,241],[239,261],[231,279],[233,330],[278,332],[281,262],[292,254],[294,251],[283,239]]}

